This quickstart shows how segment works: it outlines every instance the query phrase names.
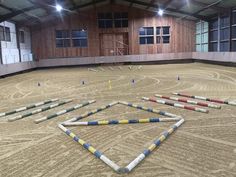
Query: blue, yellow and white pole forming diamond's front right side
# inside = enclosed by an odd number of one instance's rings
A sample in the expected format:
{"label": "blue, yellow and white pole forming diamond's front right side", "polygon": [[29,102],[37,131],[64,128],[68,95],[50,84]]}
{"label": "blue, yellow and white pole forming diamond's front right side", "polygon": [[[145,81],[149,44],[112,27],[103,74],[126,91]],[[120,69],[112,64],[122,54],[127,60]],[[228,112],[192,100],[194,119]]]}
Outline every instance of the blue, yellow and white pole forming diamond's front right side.
{"label": "blue, yellow and white pole forming diamond's front right side", "polygon": [[151,144],[147,149],[143,151],[138,157],[136,157],[129,165],[127,165],[121,170],[123,173],[129,173],[133,168],[135,168],[139,163],[141,163],[150,153],[160,146],[160,144],[167,139],[167,137],[172,134],[181,124],[183,124],[184,119],[179,120],[176,124],[174,124],[169,130],[164,131],[162,135],[156,139],[153,144]]}

